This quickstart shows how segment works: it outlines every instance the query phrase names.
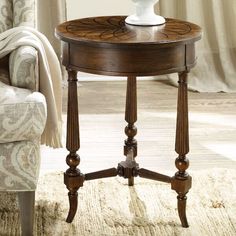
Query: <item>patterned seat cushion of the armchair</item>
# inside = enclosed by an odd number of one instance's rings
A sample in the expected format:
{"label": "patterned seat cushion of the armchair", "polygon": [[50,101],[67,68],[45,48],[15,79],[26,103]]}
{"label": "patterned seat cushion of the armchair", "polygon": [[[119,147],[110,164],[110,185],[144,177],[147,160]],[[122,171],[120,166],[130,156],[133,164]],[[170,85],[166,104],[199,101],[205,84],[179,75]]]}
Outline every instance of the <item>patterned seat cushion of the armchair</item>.
{"label": "patterned seat cushion of the armchair", "polygon": [[2,82],[0,94],[0,143],[40,138],[47,116],[45,97]]}

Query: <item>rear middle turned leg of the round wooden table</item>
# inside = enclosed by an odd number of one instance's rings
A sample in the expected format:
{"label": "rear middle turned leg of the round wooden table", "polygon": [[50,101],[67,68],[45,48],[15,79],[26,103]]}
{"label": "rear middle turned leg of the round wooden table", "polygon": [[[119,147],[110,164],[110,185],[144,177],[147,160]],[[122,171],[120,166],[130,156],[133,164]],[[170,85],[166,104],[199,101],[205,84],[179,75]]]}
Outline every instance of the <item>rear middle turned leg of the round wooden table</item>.
{"label": "rear middle turned leg of the round wooden table", "polygon": [[[137,156],[137,141],[134,139],[137,134],[137,128],[134,125],[137,121],[137,85],[136,77],[134,76],[127,78],[125,120],[128,123],[125,127],[125,134],[128,138],[125,140],[124,155],[131,158],[132,160],[130,161],[134,161]],[[132,151],[130,152],[131,149]],[[133,176],[128,178],[128,184],[129,186],[134,185]]]}

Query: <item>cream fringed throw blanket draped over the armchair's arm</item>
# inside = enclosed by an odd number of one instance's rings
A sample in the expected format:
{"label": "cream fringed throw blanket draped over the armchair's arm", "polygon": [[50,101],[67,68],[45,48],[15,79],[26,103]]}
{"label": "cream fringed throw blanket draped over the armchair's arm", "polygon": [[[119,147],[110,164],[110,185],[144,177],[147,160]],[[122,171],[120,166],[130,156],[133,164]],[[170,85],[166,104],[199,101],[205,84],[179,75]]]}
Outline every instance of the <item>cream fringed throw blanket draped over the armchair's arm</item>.
{"label": "cream fringed throw blanket draped over the armchair's arm", "polygon": [[47,102],[47,122],[41,142],[62,147],[62,78],[58,58],[47,38],[33,28],[20,26],[0,34],[0,58],[20,46],[32,46],[39,55],[39,91]]}

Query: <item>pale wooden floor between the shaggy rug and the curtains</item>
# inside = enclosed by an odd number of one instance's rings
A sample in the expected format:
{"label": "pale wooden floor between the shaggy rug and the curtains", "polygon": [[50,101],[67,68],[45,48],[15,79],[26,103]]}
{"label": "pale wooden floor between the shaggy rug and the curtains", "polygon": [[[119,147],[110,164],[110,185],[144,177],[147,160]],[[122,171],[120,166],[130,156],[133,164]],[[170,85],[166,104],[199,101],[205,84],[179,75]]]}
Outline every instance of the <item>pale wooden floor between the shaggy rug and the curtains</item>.
{"label": "pale wooden floor between the shaggy rug and the curtains", "polygon": [[[177,88],[158,81],[138,81],[137,86],[136,160],[141,167],[174,173]],[[116,167],[124,159],[126,81],[81,82],[78,89],[80,169],[87,173]],[[64,89],[65,121],[66,94]],[[219,167],[236,169],[236,94],[189,92],[189,114],[189,172]],[[64,171],[67,154],[65,148],[53,150],[43,146],[42,171]]]}

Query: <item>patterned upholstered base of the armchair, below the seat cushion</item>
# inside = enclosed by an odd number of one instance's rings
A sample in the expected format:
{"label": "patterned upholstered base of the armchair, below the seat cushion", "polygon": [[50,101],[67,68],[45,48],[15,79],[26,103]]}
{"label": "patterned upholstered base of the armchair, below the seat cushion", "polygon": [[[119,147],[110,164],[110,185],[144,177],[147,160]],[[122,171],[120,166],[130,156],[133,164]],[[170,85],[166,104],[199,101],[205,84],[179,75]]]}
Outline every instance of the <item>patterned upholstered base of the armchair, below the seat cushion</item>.
{"label": "patterned upholstered base of the armchair, below the seat cushion", "polygon": [[39,140],[0,144],[0,191],[35,190],[39,165]]}

